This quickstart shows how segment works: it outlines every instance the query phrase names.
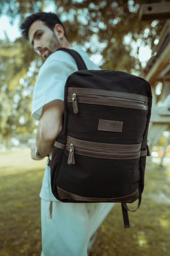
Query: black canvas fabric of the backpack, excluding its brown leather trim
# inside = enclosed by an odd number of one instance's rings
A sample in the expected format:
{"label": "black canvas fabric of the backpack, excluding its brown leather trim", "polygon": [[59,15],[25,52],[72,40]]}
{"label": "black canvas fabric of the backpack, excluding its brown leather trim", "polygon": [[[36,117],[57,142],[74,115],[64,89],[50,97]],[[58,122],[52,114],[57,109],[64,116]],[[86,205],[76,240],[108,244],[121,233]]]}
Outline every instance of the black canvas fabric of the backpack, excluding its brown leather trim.
{"label": "black canvas fabric of the backpack, excluding its brown leather trim", "polygon": [[[73,104],[67,100],[70,87],[146,96],[149,99],[148,110],[78,102],[79,113],[75,114]],[[142,143],[141,151],[146,151],[151,104],[150,84],[140,77],[121,71],[79,70],[72,73],[65,84],[63,126],[56,141],[66,145],[67,136],[70,136],[94,143]],[[122,132],[99,131],[99,119],[123,122]],[[51,159],[51,189],[59,201],[88,202],[60,198],[57,186],[85,198],[105,198],[104,202],[109,201],[107,198],[120,197],[124,198],[120,202],[131,202],[126,200],[126,196],[137,189],[141,197],[146,155],[134,159],[106,159],[74,154],[75,164],[68,164],[68,155],[66,148],[54,146]]]}

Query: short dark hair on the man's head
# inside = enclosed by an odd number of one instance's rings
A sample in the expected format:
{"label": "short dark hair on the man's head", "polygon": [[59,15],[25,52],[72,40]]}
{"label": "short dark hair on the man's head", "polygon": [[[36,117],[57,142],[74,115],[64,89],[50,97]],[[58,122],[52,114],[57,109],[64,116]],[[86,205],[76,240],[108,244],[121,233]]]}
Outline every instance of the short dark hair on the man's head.
{"label": "short dark hair on the man's head", "polygon": [[[34,13],[28,17],[26,17],[26,19],[24,20],[24,22],[21,24],[20,29],[22,32],[22,35],[24,38],[28,39],[28,30],[30,28],[30,26],[32,25],[32,23],[34,23],[34,21],[36,20],[41,20],[45,23],[46,26],[48,26],[49,29],[51,29],[53,31],[55,24],[60,24],[62,25],[61,21],[59,20],[59,17],[55,14],[55,13],[51,13],[51,12],[37,12]],[[63,29],[64,29],[64,35],[67,38],[67,35],[65,33],[65,28],[62,25]]]}

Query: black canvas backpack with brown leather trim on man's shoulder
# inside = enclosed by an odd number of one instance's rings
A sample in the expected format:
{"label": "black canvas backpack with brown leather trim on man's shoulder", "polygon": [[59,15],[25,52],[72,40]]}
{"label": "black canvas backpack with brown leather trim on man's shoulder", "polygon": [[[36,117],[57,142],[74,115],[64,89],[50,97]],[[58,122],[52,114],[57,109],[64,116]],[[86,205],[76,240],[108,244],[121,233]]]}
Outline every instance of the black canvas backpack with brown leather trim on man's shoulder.
{"label": "black canvas backpack with brown leather trim on man's shoulder", "polygon": [[[87,70],[74,50],[77,72],[65,83],[63,126],[53,148],[51,189],[62,202],[126,203],[144,189],[152,94],[144,79],[121,71]],[[138,207],[139,207],[138,205]]]}

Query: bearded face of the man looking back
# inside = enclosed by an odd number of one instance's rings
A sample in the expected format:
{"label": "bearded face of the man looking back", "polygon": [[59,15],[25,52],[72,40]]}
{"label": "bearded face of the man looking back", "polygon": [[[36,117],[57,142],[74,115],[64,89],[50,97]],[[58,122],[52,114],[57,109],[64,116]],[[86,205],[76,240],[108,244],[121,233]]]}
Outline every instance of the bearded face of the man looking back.
{"label": "bearded face of the man looking back", "polygon": [[31,24],[28,38],[34,49],[45,59],[61,47],[57,32],[49,29],[41,20],[36,20]]}

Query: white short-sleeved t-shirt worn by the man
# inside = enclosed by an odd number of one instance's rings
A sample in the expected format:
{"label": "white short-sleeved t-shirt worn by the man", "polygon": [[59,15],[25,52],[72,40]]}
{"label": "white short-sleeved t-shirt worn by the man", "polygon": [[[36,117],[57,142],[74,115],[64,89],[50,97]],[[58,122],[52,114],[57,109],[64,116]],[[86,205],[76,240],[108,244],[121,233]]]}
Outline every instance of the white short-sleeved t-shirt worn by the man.
{"label": "white short-sleeved t-shirt worn by the man", "polygon": [[[88,57],[88,54],[79,46],[71,47],[83,58],[89,70],[99,70]],[[34,87],[32,116],[39,120],[42,107],[55,100],[64,100],[64,87],[68,76],[77,71],[77,64],[70,54],[63,51],[52,53],[39,70]],[[47,201],[57,201],[51,192],[50,167],[46,165],[40,197]]]}

